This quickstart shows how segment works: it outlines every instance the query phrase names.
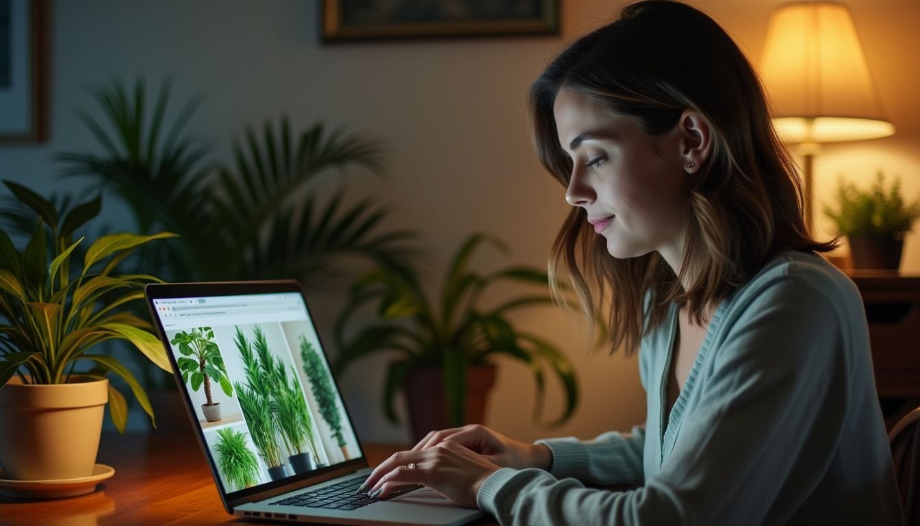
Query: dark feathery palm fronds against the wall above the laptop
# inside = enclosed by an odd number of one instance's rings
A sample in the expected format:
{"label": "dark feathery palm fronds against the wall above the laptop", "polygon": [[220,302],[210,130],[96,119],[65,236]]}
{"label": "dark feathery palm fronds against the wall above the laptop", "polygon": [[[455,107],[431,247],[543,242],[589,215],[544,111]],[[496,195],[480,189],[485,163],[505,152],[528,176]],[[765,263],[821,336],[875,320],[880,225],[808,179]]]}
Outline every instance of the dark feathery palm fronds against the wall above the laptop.
{"label": "dark feathery palm fronds against the wall above the laptop", "polygon": [[233,147],[233,166],[211,169],[204,164],[205,150],[183,135],[199,99],[185,104],[162,134],[169,92],[166,82],[148,117],[143,80],[132,94],[117,81],[94,89],[102,119],[85,111],[80,119],[104,153],[58,158],[65,174],[90,177],[120,195],[142,231],[178,232],[183,245],[170,251],[171,277],[320,283],[342,256],[390,262],[407,253],[403,243],[413,234],[380,232],[385,211],[373,200],[343,205],[344,190],[321,200],[314,188],[329,171],[362,167],[382,173],[377,143],[328,132],[321,123],[295,137],[282,118],[277,125],[266,123],[260,134],[247,129]]}

